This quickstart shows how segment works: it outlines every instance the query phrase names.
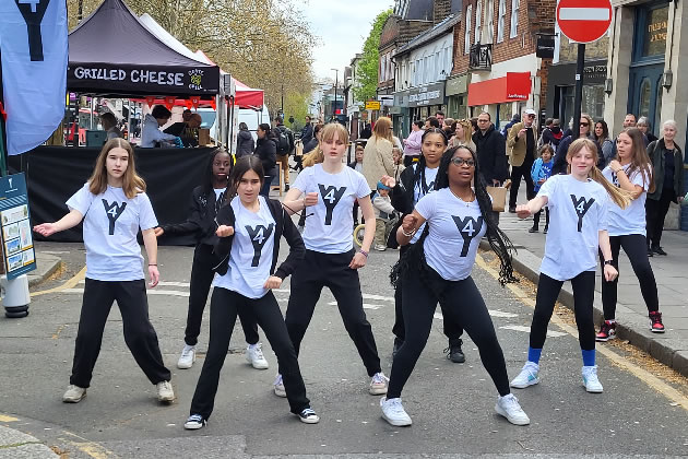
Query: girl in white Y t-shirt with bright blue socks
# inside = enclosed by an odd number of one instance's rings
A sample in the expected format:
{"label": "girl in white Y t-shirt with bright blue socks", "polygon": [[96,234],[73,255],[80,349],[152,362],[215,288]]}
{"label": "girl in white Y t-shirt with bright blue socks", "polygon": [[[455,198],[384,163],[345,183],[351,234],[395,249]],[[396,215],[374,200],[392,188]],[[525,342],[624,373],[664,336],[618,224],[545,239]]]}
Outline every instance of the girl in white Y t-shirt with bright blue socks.
{"label": "girl in white Y t-shirt with bright blue socks", "polygon": [[583,357],[583,384],[589,392],[602,392],[595,364],[593,323],[597,250],[603,255],[603,275],[607,281],[613,281],[618,272],[612,261],[607,233],[608,201],[612,198],[616,205],[626,208],[629,199],[595,167],[597,146],[592,140],[578,139],[571,143],[566,161],[569,175],[551,176],[534,199],[517,208],[519,217],[526,219],[547,205],[550,224],[539,268],[527,362],[511,381],[511,387],[523,389],[539,382],[539,356],[547,336],[547,325],[561,285],[570,280]]}

